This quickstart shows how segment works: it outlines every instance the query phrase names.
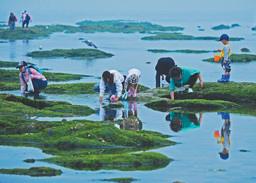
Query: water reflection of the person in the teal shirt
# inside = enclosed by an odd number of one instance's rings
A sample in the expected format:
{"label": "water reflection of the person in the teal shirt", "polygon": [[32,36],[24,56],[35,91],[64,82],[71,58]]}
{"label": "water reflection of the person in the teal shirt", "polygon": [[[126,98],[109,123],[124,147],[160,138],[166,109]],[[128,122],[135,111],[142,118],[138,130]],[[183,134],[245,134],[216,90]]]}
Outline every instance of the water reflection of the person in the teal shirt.
{"label": "water reflection of the person in the teal shirt", "polygon": [[200,127],[203,114],[199,114],[199,119],[195,114],[170,112],[166,116],[166,121],[170,121],[170,127],[173,132],[189,131]]}

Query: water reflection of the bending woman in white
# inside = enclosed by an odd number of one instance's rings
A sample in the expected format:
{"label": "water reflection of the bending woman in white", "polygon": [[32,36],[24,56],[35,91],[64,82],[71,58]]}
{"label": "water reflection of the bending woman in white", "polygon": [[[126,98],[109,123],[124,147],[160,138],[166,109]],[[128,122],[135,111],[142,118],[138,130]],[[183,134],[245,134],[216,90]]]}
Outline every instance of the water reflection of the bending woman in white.
{"label": "water reflection of the bending woman in white", "polygon": [[104,105],[100,104],[99,116],[101,121],[115,121],[122,119],[122,109],[104,109]]}

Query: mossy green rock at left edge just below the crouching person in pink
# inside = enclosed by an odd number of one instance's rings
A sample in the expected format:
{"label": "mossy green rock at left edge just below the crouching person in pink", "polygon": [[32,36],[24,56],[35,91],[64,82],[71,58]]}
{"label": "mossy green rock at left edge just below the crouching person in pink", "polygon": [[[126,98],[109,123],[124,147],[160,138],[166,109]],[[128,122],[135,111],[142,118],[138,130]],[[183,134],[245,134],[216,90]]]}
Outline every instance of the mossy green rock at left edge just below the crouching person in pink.
{"label": "mossy green rock at left edge just below the crouching person in pink", "polygon": [[5,93],[0,96],[1,115],[88,116],[97,113],[88,106],[72,105],[63,101],[28,99]]}

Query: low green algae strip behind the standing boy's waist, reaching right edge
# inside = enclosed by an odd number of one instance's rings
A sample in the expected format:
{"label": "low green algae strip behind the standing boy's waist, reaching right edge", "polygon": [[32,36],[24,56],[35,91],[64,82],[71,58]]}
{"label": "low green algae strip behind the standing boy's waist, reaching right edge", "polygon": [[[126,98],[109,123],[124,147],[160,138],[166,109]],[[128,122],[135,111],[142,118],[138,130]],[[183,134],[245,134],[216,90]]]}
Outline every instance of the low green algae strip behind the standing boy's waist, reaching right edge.
{"label": "low green algae strip behind the standing boy's waist, reaching right edge", "polygon": [[[256,61],[256,55],[255,54],[231,54],[230,60],[232,63],[244,63],[244,62]],[[204,59],[203,61],[220,63],[220,62],[214,61],[214,58]]]}

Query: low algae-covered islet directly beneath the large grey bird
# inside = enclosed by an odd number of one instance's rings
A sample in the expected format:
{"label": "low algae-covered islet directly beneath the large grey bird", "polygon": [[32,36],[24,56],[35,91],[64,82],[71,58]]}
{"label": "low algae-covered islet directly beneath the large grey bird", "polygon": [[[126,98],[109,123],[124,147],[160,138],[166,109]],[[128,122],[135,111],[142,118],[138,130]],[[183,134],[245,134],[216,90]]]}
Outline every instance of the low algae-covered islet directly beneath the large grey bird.
{"label": "low algae-covered islet directly beneath the large grey bird", "polygon": [[52,57],[68,57],[68,58],[110,58],[111,53],[99,51],[97,49],[54,49],[52,51],[33,51],[27,56],[32,58],[52,58]]}

